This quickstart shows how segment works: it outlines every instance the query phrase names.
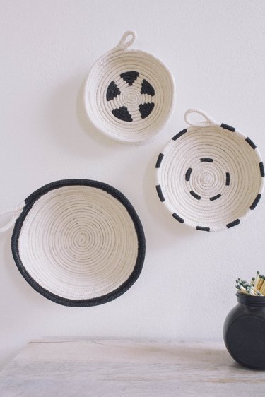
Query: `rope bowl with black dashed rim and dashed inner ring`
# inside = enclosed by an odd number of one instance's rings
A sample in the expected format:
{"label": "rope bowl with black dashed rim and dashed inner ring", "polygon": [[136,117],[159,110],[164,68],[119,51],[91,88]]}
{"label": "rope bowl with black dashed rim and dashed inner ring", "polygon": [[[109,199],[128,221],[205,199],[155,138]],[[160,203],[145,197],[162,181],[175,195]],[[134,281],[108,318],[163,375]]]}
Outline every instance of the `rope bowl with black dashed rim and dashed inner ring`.
{"label": "rope bowl with black dashed rim and dashed inner ring", "polygon": [[[199,114],[204,122],[190,122]],[[254,142],[232,126],[190,109],[189,128],[167,143],[156,162],[156,190],[172,217],[196,230],[227,230],[256,208],[264,164]]]}

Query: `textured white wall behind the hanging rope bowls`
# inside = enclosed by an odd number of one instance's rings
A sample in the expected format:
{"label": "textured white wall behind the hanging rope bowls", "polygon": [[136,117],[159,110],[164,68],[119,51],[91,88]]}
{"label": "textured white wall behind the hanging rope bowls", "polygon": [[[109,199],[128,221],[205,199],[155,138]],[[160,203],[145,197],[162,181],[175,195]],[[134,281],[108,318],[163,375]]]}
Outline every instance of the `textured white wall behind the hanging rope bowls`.
{"label": "textured white wall behind the hanging rope bowls", "polygon": [[[146,232],[141,277],[99,307],[62,307],[28,285],[0,236],[0,366],[42,336],[221,338],[234,280],[265,272],[265,200],[239,227],[204,233],[175,222],[155,192],[165,143],[199,107],[249,135],[265,157],[265,2],[1,0],[0,211],[57,179],[121,190]],[[175,113],[152,141],[126,146],[86,120],[90,66],[125,30],[176,80]]]}

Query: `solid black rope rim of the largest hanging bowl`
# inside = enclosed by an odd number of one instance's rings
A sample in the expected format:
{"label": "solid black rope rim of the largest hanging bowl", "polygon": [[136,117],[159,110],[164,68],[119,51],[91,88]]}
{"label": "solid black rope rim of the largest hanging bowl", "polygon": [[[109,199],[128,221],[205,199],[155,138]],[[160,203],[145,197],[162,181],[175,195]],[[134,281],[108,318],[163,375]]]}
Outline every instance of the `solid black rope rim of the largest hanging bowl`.
{"label": "solid black rope rim of the largest hanging bowl", "polygon": [[[138,256],[136,259],[134,270],[131,272],[129,278],[122,285],[119,285],[119,287],[116,290],[113,290],[112,292],[109,292],[106,295],[102,295],[100,297],[90,298],[86,300],[71,300],[69,298],[60,297],[59,295],[49,292],[49,290],[46,290],[41,285],[39,285],[25,269],[20,259],[20,254],[18,249],[20,231],[26,216],[33,207],[33,204],[35,203],[35,201],[38,200],[38,198],[47,194],[48,191],[59,189],[60,187],[64,187],[64,186],[90,186],[90,187],[102,189],[103,191],[107,191],[107,193],[111,194],[114,198],[116,198],[120,203],[124,205],[126,211],[129,213],[129,215],[131,216],[131,220],[134,223],[134,227],[138,239]],[[42,296],[46,297],[47,299],[52,300],[53,302],[56,302],[58,304],[62,304],[64,306],[89,307],[89,306],[96,306],[98,304],[104,304],[110,302],[116,299],[117,297],[119,297],[120,295],[124,294],[124,292],[126,292],[127,290],[129,290],[129,288],[131,288],[131,286],[136,282],[137,278],[139,278],[139,275],[141,274],[143,268],[143,262],[146,254],[146,239],[139,216],[137,215],[134,207],[132,206],[128,198],[126,198],[124,194],[122,194],[119,190],[115,189],[113,186],[110,186],[109,184],[94,181],[91,179],[63,179],[40,187],[40,189],[37,189],[36,191],[33,192],[33,194],[30,194],[30,196],[28,196],[28,198],[25,199],[25,207],[23,208],[22,213],[20,213],[18,219],[16,220],[16,224],[13,228],[11,249],[12,249],[13,259],[16,263],[16,266],[18,267],[18,270],[23,275],[23,278],[25,278],[25,280],[30,284],[30,286],[35,291],[39,292]]]}

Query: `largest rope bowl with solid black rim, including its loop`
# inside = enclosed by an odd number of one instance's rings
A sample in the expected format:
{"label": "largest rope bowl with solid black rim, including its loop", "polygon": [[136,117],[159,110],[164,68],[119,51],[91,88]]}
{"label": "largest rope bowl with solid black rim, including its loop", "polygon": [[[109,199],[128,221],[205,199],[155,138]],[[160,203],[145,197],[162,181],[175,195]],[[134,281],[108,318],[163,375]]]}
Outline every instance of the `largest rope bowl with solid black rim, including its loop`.
{"label": "largest rope bowl with solid black rim, including its loop", "polygon": [[[11,248],[25,280],[49,300],[87,307],[134,284],[145,257],[141,220],[114,187],[90,179],[52,182],[16,208]],[[2,213],[3,214],[3,213]]]}

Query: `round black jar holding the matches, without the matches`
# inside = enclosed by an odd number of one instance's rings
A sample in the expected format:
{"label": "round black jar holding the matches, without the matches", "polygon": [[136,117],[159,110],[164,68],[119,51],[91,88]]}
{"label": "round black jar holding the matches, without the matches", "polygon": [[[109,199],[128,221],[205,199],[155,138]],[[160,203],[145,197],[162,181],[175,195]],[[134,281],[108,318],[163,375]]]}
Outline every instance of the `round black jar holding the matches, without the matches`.
{"label": "round black jar holding the matches, without the matches", "polygon": [[237,292],[237,302],[223,326],[225,346],[241,365],[265,369],[265,297]]}

